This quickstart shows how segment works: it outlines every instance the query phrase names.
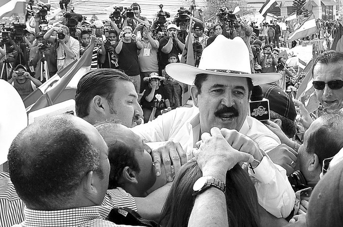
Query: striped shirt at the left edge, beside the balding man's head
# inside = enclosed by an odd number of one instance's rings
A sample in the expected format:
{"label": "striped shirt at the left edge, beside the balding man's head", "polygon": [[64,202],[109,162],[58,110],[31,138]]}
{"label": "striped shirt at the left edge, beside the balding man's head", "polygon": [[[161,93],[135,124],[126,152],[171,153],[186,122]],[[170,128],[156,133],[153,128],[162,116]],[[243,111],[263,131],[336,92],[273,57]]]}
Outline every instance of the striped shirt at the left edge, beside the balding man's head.
{"label": "striped shirt at the left edge, beside the balding man's head", "polygon": [[24,202],[19,198],[9,174],[0,171],[0,227],[24,221]]}

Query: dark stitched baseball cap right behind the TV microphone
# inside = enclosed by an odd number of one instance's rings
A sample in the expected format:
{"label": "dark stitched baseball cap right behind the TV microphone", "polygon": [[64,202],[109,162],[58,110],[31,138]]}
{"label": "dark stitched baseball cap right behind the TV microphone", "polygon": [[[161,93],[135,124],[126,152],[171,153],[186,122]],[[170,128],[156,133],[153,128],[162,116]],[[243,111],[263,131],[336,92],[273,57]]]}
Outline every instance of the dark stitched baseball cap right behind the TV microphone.
{"label": "dark stitched baseball cap right behind the TV microphone", "polygon": [[288,119],[295,120],[296,111],[290,96],[275,85],[261,85],[264,98],[269,99],[270,110]]}

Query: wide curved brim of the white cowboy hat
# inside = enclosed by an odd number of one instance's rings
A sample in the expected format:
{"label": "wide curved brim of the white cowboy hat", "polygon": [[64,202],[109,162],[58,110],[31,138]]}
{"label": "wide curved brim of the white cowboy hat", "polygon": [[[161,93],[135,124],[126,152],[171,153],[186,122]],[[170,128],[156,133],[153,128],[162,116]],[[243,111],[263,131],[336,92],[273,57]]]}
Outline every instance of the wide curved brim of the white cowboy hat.
{"label": "wide curved brim of the white cowboy hat", "polygon": [[255,74],[238,74],[238,73],[226,73],[217,72],[212,70],[200,69],[194,66],[190,66],[183,63],[172,63],[166,66],[166,72],[173,79],[187,85],[194,85],[194,80],[197,74],[206,73],[210,75],[221,75],[230,77],[247,77],[251,78],[252,84],[254,86],[261,84],[268,84],[281,79],[282,75],[280,73],[255,73]]}

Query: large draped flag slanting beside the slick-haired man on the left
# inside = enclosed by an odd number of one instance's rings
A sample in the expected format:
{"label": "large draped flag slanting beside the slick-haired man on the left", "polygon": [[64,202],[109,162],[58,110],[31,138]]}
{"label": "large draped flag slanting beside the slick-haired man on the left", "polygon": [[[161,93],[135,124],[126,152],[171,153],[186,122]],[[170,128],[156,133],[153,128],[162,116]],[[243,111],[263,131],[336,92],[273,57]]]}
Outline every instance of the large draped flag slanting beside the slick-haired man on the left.
{"label": "large draped flag slanting beside the slick-haired man on the left", "polygon": [[[57,85],[52,87],[49,91],[47,90],[36,102],[33,106],[26,111],[27,114],[30,112],[51,106],[53,104],[57,104],[69,99],[75,98],[75,89],[71,90],[72,92],[66,92],[63,97],[60,95],[65,91],[67,87],[75,88],[77,85],[78,80],[90,70],[91,68],[91,61],[92,61],[92,52],[94,48],[94,43],[86,49],[80,59],[77,60],[75,64],[65,73],[65,75],[57,81]],[[68,67],[67,67],[68,68]],[[58,74],[56,74],[57,77]],[[71,85],[73,84],[73,85]],[[43,85],[42,85],[43,86]],[[68,89],[67,89],[68,90]]]}

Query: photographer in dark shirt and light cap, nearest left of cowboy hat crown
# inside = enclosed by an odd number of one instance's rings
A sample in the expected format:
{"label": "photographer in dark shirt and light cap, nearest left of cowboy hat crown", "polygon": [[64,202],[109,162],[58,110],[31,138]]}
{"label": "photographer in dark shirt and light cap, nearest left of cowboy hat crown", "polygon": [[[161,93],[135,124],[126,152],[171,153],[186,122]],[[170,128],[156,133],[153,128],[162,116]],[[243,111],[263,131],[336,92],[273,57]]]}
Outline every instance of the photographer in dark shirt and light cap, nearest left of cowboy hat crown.
{"label": "photographer in dark shirt and light cap, nearest left of cowboy hat crown", "polygon": [[[182,50],[185,47],[185,41],[177,35],[178,27],[176,24],[169,24],[167,26],[167,37],[160,39],[161,50],[161,67],[164,69],[168,64],[168,55],[174,53],[176,55],[182,54]],[[180,62],[177,59],[177,62]]]}

